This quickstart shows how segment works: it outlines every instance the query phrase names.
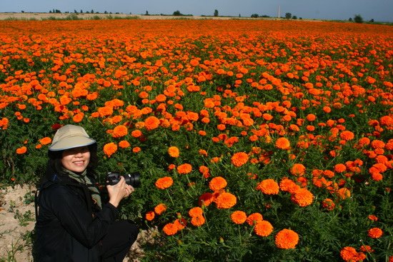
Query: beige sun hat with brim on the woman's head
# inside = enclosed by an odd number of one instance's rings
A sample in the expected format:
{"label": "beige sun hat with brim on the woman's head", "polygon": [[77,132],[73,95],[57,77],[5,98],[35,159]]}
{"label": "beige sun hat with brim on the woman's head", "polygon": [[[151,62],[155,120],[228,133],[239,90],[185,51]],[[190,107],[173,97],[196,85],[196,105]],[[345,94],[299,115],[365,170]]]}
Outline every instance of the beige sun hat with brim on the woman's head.
{"label": "beige sun hat with brim on the woman's head", "polygon": [[79,146],[90,146],[96,141],[89,137],[83,127],[66,125],[54,134],[49,151],[61,151]]}

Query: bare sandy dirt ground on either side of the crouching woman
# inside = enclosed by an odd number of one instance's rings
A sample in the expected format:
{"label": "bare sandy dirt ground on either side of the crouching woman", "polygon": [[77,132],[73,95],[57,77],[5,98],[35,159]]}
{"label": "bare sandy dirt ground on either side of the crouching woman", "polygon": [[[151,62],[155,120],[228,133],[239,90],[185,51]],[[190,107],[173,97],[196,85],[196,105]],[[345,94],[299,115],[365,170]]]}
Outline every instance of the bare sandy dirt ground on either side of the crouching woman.
{"label": "bare sandy dirt ground on either side of the crouching woman", "polygon": [[[31,186],[0,189],[0,261],[30,262],[35,224],[34,193]],[[151,233],[141,231],[124,262],[138,262],[144,252],[141,243],[151,241]]]}

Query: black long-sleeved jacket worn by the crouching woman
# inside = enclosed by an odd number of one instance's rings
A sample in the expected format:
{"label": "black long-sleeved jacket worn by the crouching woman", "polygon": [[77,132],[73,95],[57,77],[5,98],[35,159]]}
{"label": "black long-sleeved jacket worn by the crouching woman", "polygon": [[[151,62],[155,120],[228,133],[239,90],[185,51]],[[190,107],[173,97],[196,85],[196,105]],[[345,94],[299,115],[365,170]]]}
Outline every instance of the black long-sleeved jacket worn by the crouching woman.
{"label": "black long-sleeved jacket worn by the crouching woman", "polygon": [[45,181],[37,203],[37,261],[100,261],[100,240],[116,218],[116,207],[106,203],[94,211],[89,188],[68,177]]}

